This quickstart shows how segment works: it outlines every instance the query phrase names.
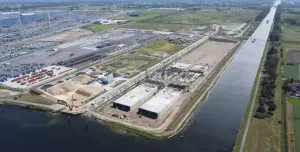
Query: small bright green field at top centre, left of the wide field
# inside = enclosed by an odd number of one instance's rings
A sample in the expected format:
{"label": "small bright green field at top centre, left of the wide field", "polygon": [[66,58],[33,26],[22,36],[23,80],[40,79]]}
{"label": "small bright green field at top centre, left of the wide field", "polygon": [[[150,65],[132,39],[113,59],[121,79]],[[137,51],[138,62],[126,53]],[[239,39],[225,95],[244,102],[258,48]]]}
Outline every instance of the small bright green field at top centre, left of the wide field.
{"label": "small bright green field at top centre, left of the wide field", "polygon": [[170,12],[157,12],[157,11],[136,11],[136,13],[140,14],[138,17],[130,17],[130,16],[125,16],[125,17],[121,17],[118,18],[119,20],[130,20],[130,21],[141,21],[141,20],[146,20],[146,19],[150,19],[150,18],[154,18],[157,16],[161,16],[161,15],[166,15],[166,14],[170,14]]}

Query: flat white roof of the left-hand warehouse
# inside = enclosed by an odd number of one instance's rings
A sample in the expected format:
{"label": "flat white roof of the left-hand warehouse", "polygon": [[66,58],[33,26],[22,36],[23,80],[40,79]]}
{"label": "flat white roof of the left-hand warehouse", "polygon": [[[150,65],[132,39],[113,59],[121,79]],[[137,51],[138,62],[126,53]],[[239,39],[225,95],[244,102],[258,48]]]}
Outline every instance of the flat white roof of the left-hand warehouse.
{"label": "flat white roof of the left-hand warehouse", "polygon": [[132,107],[142,100],[147,100],[146,97],[153,94],[157,89],[157,85],[143,83],[127,92],[125,95],[114,101],[114,103]]}

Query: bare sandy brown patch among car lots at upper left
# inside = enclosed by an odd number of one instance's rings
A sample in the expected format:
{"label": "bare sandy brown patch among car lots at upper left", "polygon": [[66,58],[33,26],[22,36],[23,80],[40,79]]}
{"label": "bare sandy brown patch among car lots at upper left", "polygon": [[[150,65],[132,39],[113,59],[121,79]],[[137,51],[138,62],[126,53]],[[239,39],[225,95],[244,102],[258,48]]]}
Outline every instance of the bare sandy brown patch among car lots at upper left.
{"label": "bare sandy brown patch among car lots at upper left", "polygon": [[61,33],[54,34],[52,36],[38,39],[37,41],[66,42],[66,41],[75,40],[79,37],[90,35],[90,34],[93,34],[93,32],[90,30],[75,28],[75,29],[67,30],[67,31],[64,31]]}

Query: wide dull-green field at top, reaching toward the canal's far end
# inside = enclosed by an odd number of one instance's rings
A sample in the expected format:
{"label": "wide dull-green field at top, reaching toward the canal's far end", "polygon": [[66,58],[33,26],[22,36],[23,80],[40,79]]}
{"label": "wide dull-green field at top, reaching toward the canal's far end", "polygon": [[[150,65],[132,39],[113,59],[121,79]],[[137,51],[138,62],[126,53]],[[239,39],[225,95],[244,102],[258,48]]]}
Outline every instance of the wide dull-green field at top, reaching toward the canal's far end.
{"label": "wide dull-green field at top, reaching toward the canal's far end", "polygon": [[222,11],[184,11],[175,15],[157,17],[147,22],[177,24],[213,24],[222,22],[250,22],[259,14],[258,10],[230,9]]}

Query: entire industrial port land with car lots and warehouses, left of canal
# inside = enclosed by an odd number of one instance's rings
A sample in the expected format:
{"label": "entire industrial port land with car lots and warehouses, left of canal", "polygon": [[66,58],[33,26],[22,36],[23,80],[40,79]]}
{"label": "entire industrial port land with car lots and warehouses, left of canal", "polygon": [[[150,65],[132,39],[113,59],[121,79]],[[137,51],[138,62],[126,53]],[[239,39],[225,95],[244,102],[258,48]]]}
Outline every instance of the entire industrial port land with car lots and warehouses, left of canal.
{"label": "entire industrial port land with car lots and warehouses, left of canal", "polygon": [[142,22],[131,20],[140,15],[131,12],[73,10],[24,23],[17,13],[18,24],[0,27],[0,93],[7,93],[0,96],[153,137],[176,134],[253,26],[134,28]]}

